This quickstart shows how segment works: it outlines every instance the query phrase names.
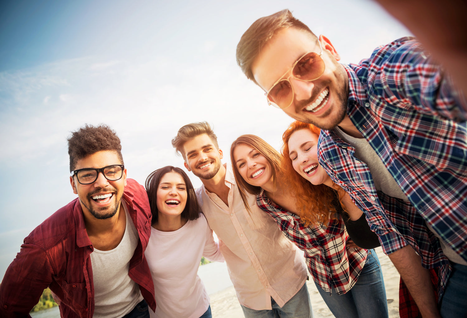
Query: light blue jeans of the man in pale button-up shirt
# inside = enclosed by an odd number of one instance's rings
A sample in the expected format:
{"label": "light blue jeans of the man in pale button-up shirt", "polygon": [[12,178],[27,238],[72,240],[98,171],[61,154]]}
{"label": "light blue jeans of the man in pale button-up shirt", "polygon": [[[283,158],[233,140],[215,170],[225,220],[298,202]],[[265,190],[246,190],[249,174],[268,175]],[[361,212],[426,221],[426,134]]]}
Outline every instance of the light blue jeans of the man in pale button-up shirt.
{"label": "light blue jeans of the man in pale button-up shirt", "polygon": [[271,297],[271,310],[254,310],[241,305],[245,318],[313,318],[306,282],[282,307]]}

